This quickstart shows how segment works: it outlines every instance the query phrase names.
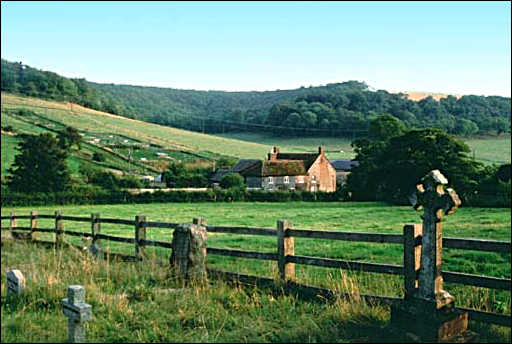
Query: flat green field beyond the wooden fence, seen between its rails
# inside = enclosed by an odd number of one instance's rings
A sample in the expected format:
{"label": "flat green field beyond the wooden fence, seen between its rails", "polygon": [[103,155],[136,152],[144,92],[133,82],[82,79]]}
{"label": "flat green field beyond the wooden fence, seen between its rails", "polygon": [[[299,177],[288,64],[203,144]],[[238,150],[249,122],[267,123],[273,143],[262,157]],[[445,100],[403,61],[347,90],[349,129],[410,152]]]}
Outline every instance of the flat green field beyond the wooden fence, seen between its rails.
{"label": "flat green field beyond the wooden fence, seen between its rails", "polygon": [[[18,208],[18,214],[28,214],[32,208]],[[102,217],[133,219],[136,214],[144,214],[151,221],[191,222],[193,217],[203,216],[210,225],[233,225],[251,227],[273,227],[278,219],[288,219],[294,228],[338,231],[361,231],[401,234],[405,223],[420,222],[420,213],[410,207],[391,207],[381,203],[349,202],[287,202],[287,203],[192,203],[192,204],[132,204],[101,206],[39,207],[40,214],[53,214],[62,209],[65,215],[88,216],[93,212]],[[13,209],[2,208],[2,215]],[[19,225],[23,225],[21,224]],[[27,220],[25,220],[27,221]],[[444,224],[444,234],[448,237],[481,238],[510,241],[510,209],[461,208],[448,217]],[[5,226],[4,221],[2,226]],[[52,228],[51,220],[40,220],[40,227]],[[89,231],[90,225],[68,223],[69,230]],[[102,232],[123,237],[133,237],[131,226],[103,224]],[[170,242],[172,231],[159,228],[148,229],[148,238]],[[52,235],[41,238],[51,239]],[[53,239],[52,239],[53,240]],[[70,242],[80,244],[80,239],[70,237]],[[131,245],[105,242],[111,252],[130,253]],[[250,235],[211,233],[209,247],[242,249],[260,252],[276,252],[276,238]],[[149,248],[149,252],[168,257],[169,251]],[[341,242],[314,239],[295,239],[297,255],[347,259],[374,263],[402,264],[401,245]],[[258,261],[216,255],[208,256],[211,267],[229,271],[275,277],[277,266],[273,261]],[[443,268],[447,271],[510,278],[510,254],[461,251],[446,249]],[[347,272],[347,276],[357,280],[363,293],[403,296],[401,276]],[[333,276],[339,276],[336,269],[325,269],[297,265],[296,277],[299,281],[329,287]],[[386,280],[385,286],[382,280]],[[459,305],[477,307],[495,312],[510,313],[510,293],[476,287],[448,285],[450,291],[461,299]]]}

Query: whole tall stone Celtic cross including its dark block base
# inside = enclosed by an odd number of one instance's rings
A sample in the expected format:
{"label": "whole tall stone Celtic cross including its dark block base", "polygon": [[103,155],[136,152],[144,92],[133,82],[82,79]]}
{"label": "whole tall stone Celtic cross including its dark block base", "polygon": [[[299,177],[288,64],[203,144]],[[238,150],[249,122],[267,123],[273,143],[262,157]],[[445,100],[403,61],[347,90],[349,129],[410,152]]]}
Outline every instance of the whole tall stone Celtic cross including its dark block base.
{"label": "whole tall stone Celtic cross including its dark block base", "polygon": [[468,337],[468,314],[454,308],[454,297],[443,289],[443,214],[453,214],[461,204],[448,180],[433,170],[422,178],[411,197],[416,210],[424,209],[418,288],[399,306],[391,308],[391,325],[420,341],[440,342]]}

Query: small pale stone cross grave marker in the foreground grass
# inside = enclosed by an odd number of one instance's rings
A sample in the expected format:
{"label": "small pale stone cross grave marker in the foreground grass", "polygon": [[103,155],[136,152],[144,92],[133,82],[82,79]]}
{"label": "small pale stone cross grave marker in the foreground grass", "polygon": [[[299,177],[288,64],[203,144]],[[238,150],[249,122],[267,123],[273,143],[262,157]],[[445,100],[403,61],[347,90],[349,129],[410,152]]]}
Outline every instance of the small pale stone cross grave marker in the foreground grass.
{"label": "small pale stone cross grave marker in the foreground grass", "polygon": [[81,285],[68,286],[68,297],[62,299],[62,312],[68,317],[68,338],[71,343],[85,343],[86,321],[91,320],[91,305],[85,303],[85,289]]}

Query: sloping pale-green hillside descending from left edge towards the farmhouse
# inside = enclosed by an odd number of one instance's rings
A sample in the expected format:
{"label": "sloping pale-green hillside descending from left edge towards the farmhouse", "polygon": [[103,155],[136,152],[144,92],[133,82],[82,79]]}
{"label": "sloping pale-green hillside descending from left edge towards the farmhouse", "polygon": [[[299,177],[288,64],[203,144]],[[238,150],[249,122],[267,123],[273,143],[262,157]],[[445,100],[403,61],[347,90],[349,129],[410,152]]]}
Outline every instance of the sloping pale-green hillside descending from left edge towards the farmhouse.
{"label": "sloping pale-green hillside descending from left edge towards the farmhouse", "polygon": [[[155,174],[170,161],[212,160],[222,156],[263,157],[270,146],[220,138],[186,130],[174,129],[63,102],[45,101],[2,93],[2,175],[14,161],[17,135],[53,132],[66,126],[82,134],[82,148],[69,158],[73,173],[83,161],[110,170]],[[104,162],[92,161],[100,152]],[[156,153],[167,154],[158,157]],[[128,156],[133,160],[129,162]],[[142,160],[146,161],[142,161]]]}

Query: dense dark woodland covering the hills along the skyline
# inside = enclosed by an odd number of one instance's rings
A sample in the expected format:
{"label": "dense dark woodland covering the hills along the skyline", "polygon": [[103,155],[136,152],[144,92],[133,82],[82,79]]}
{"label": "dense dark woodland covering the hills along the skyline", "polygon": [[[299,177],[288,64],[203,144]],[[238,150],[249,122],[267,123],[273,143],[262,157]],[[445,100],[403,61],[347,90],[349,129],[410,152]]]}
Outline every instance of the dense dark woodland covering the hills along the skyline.
{"label": "dense dark woodland covering the hills along the skyline", "polygon": [[471,136],[510,131],[510,98],[432,97],[371,91],[348,81],[267,92],[223,92],[98,84],[2,59],[2,91],[66,100],[106,112],[206,133],[364,136],[372,119],[390,114],[409,128],[435,127]]}

